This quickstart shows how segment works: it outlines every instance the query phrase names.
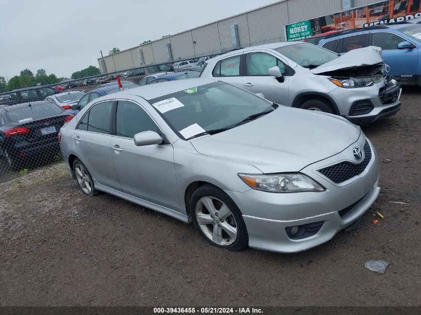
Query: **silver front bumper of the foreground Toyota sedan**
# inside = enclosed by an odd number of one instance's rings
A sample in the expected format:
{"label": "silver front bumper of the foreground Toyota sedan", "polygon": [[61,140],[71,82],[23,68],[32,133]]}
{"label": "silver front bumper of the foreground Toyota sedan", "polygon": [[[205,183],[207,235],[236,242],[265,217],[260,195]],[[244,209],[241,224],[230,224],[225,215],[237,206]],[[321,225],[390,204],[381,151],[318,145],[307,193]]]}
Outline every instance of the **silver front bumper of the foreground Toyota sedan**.
{"label": "silver front bumper of the foreground Toyota sedan", "polygon": [[[352,149],[363,147],[364,141],[362,136],[341,153],[300,171],[324,186],[323,192],[226,191],[242,211],[249,246],[281,253],[304,251],[330,240],[364,214],[380,193],[377,153],[368,139],[372,158],[361,174],[337,184],[319,173],[326,166],[351,161]],[[299,232],[292,233],[293,229]]]}

